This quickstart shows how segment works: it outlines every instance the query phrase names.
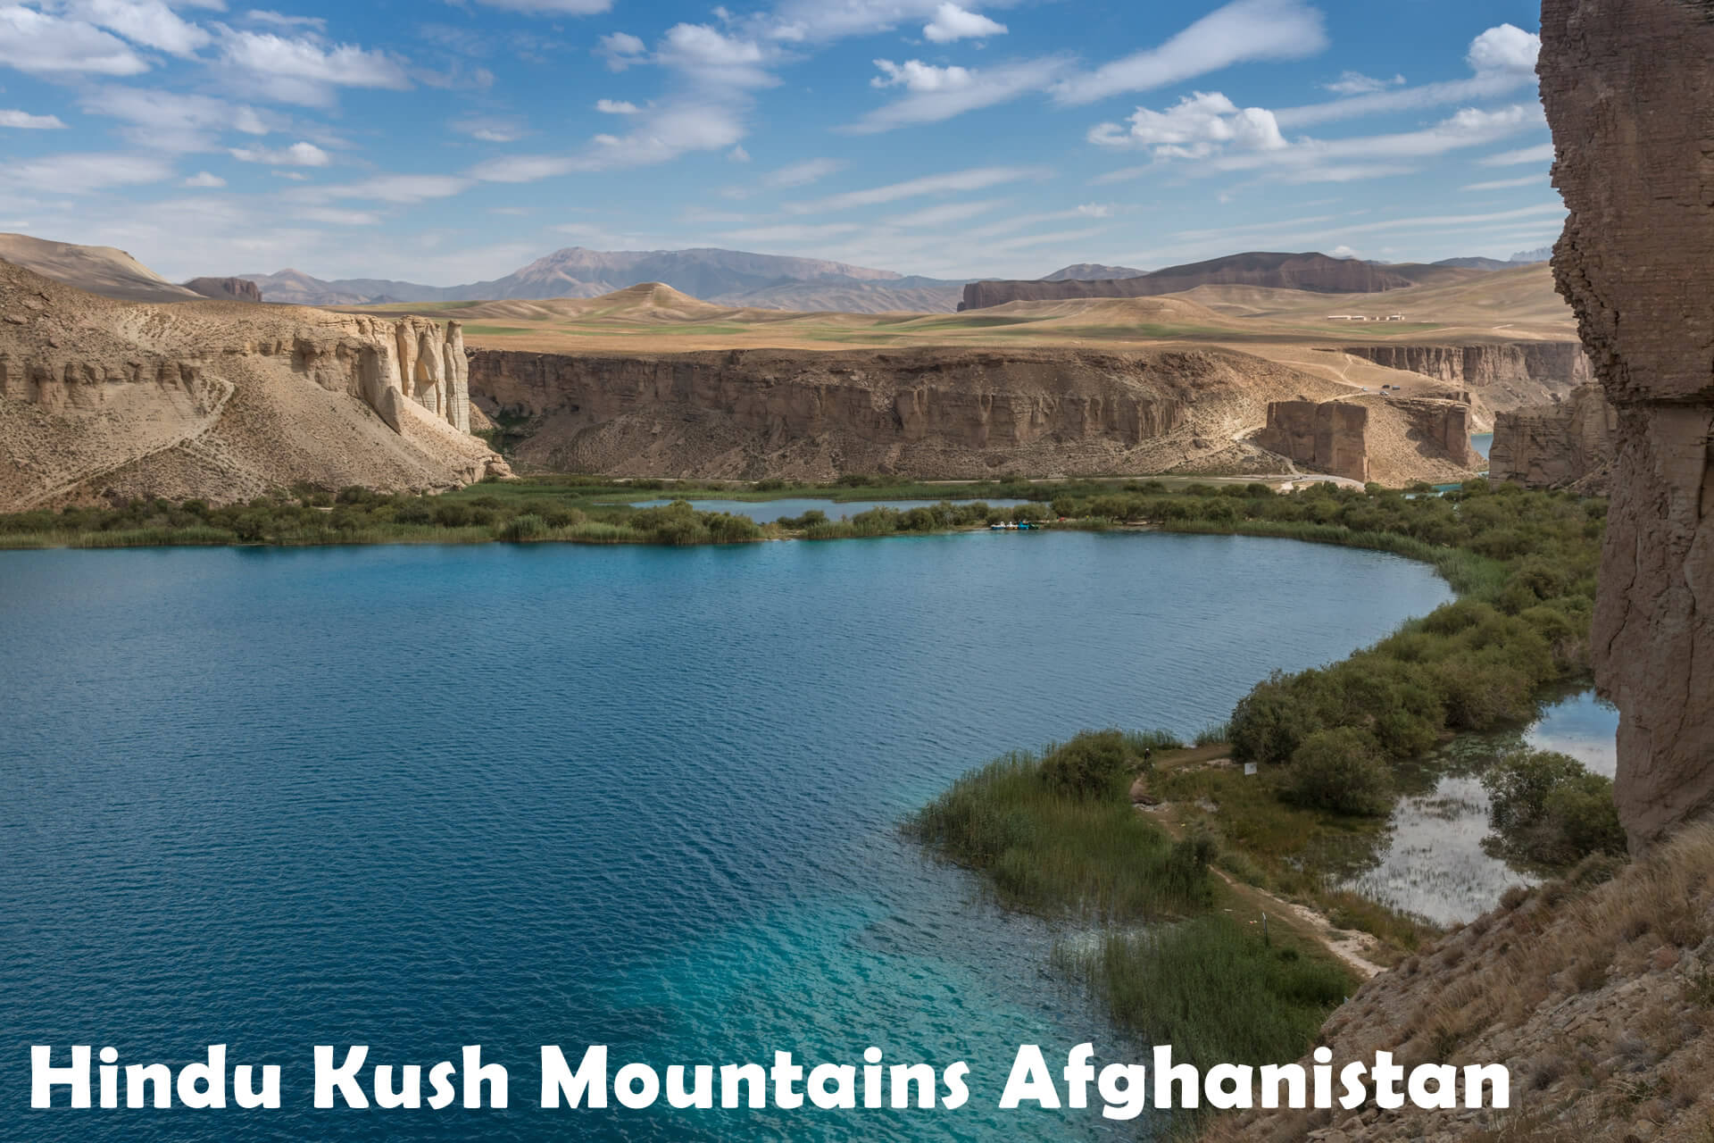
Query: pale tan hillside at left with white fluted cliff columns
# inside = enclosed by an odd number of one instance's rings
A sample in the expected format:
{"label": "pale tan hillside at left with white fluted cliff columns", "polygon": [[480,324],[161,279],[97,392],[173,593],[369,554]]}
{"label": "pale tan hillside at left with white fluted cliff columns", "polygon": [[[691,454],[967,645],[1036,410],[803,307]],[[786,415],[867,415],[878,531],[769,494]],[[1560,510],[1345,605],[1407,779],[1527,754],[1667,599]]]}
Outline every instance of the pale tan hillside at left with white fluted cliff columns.
{"label": "pale tan hillside at left with white fluted cliff columns", "polygon": [[135,305],[0,262],[0,511],[470,483],[504,463],[466,375],[451,322]]}

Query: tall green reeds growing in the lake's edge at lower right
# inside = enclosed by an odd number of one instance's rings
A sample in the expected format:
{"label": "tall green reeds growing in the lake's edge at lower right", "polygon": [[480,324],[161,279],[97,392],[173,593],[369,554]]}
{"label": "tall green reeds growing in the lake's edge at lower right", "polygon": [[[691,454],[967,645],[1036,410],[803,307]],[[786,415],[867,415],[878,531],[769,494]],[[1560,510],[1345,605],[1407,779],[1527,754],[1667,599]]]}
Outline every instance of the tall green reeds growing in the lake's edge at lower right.
{"label": "tall green reeds growing in the lake's edge at lower right", "polygon": [[[1351,977],[1287,932],[1265,943],[1210,912],[1226,893],[1210,872],[1217,841],[1200,831],[1172,840],[1131,805],[1131,783],[1150,769],[1145,749],[1183,744],[1169,732],[1104,730],[1010,754],[960,778],[905,829],[987,874],[1011,908],[1104,925],[1092,948],[1061,948],[1058,960],[1121,1025],[1191,1059],[1291,1059]],[[1150,922],[1160,927],[1135,931]]]}

